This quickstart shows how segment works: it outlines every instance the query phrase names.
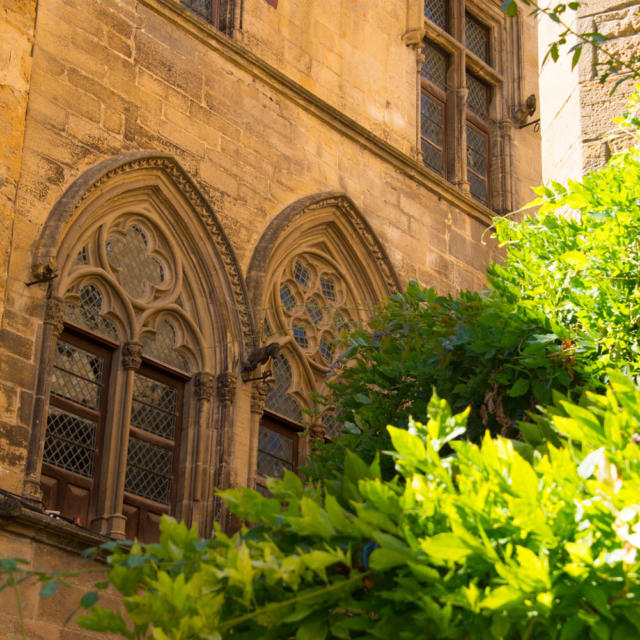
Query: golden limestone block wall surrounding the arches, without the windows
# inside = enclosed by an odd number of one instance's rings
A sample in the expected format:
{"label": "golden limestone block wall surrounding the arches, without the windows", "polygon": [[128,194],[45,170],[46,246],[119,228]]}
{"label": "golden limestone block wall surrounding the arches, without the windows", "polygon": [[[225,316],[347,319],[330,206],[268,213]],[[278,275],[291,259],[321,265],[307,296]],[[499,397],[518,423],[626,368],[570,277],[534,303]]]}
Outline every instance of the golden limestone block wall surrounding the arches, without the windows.
{"label": "golden limestone block wall surrounding the arches, without the windows", "polygon": [[[417,63],[402,41],[403,2],[281,1],[274,9],[245,0],[234,39],[174,0],[39,0],[37,15],[35,6],[5,0],[0,22],[0,55],[10,63],[0,65],[1,489],[23,491],[34,417],[47,292],[46,283],[25,284],[34,245],[65,190],[107,158],[173,155],[212,205],[245,275],[279,212],[337,191],[369,223],[402,285],[483,287],[491,212],[416,159]],[[533,30],[527,23],[526,95],[536,91]],[[511,131],[521,204],[539,181],[539,139],[508,118],[501,126]],[[250,397],[240,389],[246,406],[236,415],[249,415]],[[234,429],[233,478],[243,483],[250,430],[240,419]],[[27,529],[12,536],[18,546],[5,538],[1,553],[36,553]],[[85,637],[57,623],[42,629],[33,637]]]}

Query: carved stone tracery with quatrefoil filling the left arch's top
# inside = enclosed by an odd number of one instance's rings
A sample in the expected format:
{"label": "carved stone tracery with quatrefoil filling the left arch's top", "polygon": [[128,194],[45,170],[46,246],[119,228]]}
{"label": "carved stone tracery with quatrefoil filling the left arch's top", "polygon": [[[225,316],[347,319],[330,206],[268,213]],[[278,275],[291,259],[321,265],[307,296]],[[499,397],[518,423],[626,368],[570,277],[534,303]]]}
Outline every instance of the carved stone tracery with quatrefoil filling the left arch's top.
{"label": "carved stone tracery with quatrefoil filling the left arch's top", "polygon": [[197,365],[191,288],[179,257],[141,216],[107,220],[63,270],[65,318],[114,341],[139,340],[145,355],[182,371]]}

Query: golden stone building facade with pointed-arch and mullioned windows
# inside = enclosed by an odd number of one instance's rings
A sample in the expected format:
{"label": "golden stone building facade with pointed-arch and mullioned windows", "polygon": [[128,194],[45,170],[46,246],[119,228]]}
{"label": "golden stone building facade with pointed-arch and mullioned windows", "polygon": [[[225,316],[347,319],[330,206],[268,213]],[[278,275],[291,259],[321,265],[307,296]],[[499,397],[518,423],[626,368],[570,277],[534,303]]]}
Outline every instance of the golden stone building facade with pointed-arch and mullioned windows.
{"label": "golden stone building facade with pointed-arch and mullioned windows", "polygon": [[[494,0],[0,7],[0,552],[68,568],[162,513],[208,535],[217,488],[339,429],[303,409],[342,328],[409,279],[483,286],[492,215],[540,181],[535,25]],[[27,594],[28,637],[89,637],[61,623],[82,587]]]}

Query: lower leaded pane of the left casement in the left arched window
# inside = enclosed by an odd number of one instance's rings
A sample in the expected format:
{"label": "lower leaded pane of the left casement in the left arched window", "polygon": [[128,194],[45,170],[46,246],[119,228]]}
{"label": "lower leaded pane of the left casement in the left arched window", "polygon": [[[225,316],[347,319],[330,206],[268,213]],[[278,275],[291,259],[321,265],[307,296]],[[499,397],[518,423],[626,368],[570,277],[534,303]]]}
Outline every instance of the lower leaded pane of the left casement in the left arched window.
{"label": "lower leaded pane of the left casement in the left arched window", "polygon": [[95,465],[98,425],[50,407],[44,441],[44,462],[91,478]]}

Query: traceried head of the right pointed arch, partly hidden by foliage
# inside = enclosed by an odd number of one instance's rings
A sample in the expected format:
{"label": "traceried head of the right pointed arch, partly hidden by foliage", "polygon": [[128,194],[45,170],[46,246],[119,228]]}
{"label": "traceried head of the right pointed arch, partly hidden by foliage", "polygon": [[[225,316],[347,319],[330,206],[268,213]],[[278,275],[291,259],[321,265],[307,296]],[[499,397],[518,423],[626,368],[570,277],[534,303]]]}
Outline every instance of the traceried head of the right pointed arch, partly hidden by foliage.
{"label": "traceried head of the right pointed arch, partly hidden by foliage", "polygon": [[[263,344],[278,342],[266,407],[292,398],[309,406],[339,356],[340,333],[366,322],[371,305],[397,291],[391,263],[369,224],[344,195],[305,198],[271,222],[253,254],[249,297]],[[285,386],[283,381],[287,382]]]}

